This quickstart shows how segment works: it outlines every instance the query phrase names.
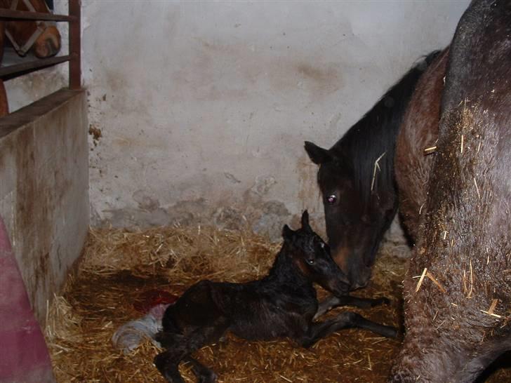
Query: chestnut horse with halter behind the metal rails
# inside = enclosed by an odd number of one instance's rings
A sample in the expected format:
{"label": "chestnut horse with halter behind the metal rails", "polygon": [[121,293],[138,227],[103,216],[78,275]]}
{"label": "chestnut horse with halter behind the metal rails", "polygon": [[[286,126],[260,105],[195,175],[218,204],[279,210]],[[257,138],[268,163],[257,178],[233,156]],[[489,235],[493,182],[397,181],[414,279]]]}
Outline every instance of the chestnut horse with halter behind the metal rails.
{"label": "chestnut horse with halter behind the metal rails", "polygon": [[[0,8],[13,11],[50,13],[44,0],[0,0]],[[37,58],[49,58],[60,51],[60,33],[48,22],[34,20],[0,21],[0,62],[4,55],[4,40],[8,38],[18,55],[33,52]],[[8,114],[4,81],[0,79],[0,116]]]}

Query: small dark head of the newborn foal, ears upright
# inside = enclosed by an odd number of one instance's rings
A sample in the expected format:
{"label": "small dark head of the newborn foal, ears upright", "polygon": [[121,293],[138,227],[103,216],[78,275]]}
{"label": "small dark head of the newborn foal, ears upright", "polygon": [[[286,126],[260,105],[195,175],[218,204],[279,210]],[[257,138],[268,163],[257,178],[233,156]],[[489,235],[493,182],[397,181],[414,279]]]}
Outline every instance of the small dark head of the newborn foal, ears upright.
{"label": "small dark head of the newborn foal, ears upright", "polygon": [[334,295],[347,294],[349,281],[336,262],[333,262],[328,245],[310,227],[307,210],[302,215],[302,227],[293,231],[284,225],[282,236],[293,261],[307,279]]}

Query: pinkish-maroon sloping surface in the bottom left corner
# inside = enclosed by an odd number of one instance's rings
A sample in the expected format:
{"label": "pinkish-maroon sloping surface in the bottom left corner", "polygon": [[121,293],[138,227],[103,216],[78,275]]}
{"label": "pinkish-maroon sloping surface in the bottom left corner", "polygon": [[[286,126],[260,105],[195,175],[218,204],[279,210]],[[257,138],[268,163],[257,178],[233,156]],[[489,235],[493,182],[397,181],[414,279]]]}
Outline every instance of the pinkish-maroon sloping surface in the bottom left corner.
{"label": "pinkish-maroon sloping surface in the bottom left corner", "polygon": [[50,356],[0,217],[0,382],[55,382]]}

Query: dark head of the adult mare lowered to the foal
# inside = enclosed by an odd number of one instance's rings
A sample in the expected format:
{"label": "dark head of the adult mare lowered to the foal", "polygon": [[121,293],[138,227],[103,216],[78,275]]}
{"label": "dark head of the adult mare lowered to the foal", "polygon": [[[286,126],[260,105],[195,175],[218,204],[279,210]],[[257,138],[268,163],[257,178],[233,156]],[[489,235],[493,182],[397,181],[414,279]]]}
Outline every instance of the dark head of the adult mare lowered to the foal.
{"label": "dark head of the adult mare lowered to the foal", "polygon": [[[319,165],[317,181],[323,199],[326,234],[333,260],[361,288],[371,277],[376,250],[392,222],[397,199],[388,174],[389,153],[362,149],[354,159],[343,152],[305,142],[312,162]],[[357,164],[357,166],[355,166]]]}

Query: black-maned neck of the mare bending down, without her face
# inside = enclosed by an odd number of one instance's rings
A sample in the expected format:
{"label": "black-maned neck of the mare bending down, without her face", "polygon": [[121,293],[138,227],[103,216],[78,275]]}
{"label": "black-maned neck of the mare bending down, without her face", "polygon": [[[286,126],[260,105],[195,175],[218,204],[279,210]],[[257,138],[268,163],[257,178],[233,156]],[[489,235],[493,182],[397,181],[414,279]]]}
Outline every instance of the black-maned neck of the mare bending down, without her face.
{"label": "black-maned neck of the mare bending down, without her face", "polygon": [[343,137],[331,147],[342,166],[353,172],[354,184],[364,199],[371,196],[371,184],[375,161],[378,161],[378,176],[373,190],[396,191],[394,184],[394,149],[401,119],[416,88],[416,83],[425,69],[440,51],[433,51],[412,67],[392,86],[373,108],[367,112]]}

